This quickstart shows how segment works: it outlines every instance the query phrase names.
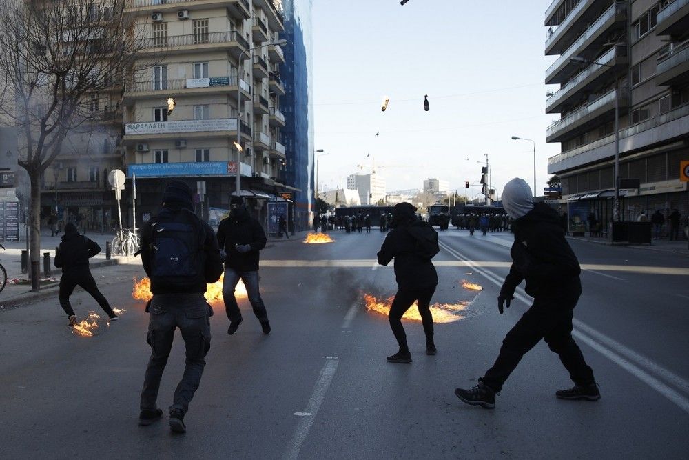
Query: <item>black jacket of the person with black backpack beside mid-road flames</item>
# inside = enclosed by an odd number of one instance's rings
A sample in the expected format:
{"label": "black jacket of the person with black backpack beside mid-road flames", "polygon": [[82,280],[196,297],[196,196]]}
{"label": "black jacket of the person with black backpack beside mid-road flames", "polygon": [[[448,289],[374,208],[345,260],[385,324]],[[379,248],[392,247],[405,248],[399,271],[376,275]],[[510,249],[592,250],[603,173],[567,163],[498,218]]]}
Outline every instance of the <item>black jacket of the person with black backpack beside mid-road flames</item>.
{"label": "black jacket of the person with black backpack beside mid-road flames", "polygon": [[[430,288],[438,284],[438,273],[431,258],[418,250],[419,237],[433,237],[435,230],[426,222],[414,222],[394,228],[378,251],[378,263],[387,266],[395,259],[395,277],[400,289]],[[438,235],[435,234],[437,239]]]}

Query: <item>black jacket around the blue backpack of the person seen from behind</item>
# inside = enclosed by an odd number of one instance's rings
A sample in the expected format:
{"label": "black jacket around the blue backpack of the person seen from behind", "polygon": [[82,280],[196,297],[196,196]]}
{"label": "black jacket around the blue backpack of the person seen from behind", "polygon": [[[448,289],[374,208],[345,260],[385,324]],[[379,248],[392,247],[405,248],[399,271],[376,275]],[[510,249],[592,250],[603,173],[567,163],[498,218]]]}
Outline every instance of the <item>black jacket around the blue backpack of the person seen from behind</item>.
{"label": "black jacket around the blue backpack of the person seen from behind", "polygon": [[[194,292],[206,292],[207,283],[215,283],[220,279],[220,274],[223,274],[223,262],[220,259],[220,250],[218,249],[218,242],[216,241],[215,232],[207,223],[201,221],[196,217],[191,210],[183,210],[176,206],[165,206],[158,212],[156,216],[157,221],[165,222],[183,222],[183,223],[193,223],[198,226],[203,232],[205,232],[205,238],[203,240],[203,257],[200,260],[203,263],[203,275],[205,281],[199,281],[194,283],[194,285],[189,284],[177,284],[171,286],[166,284],[165,286],[158,286],[154,279],[151,280],[151,292],[153,294],[176,294],[180,292],[194,293]],[[152,230],[151,224],[153,221],[149,221],[141,228],[141,263],[143,263],[143,270],[145,270],[147,276],[151,278],[151,257],[152,257]]]}

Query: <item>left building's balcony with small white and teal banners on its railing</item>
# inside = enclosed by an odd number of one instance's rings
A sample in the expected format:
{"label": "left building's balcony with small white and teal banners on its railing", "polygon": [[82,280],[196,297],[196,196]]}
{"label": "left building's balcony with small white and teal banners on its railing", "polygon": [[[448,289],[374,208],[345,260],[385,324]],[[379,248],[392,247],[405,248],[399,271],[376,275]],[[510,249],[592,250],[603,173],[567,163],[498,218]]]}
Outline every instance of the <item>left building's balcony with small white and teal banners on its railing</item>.
{"label": "left building's balcony with small white and teal banners on its railing", "polygon": [[[251,97],[251,86],[239,81],[243,100]],[[236,94],[237,77],[210,77],[194,79],[174,79],[163,81],[136,81],[125,85],[124,103],[131,106],[139,99],[159,99],[162,95],[194,96],[196,94]]]}

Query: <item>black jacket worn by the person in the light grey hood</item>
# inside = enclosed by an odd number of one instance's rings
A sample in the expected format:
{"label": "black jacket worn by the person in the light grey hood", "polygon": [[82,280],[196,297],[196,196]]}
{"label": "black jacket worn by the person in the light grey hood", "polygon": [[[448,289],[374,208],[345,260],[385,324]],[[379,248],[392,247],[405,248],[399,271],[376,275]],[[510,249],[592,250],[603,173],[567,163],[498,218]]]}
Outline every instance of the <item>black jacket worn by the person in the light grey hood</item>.
{"label": "black jacket worn by the person in the light grey hood", "polygon": [[515,242],[510,254],[512,266],[500,294],[511,296],[526,280],[531,297],[557,297],[581,292],[582,269],[559,223],[557,212],[545,203],[513,222]]}

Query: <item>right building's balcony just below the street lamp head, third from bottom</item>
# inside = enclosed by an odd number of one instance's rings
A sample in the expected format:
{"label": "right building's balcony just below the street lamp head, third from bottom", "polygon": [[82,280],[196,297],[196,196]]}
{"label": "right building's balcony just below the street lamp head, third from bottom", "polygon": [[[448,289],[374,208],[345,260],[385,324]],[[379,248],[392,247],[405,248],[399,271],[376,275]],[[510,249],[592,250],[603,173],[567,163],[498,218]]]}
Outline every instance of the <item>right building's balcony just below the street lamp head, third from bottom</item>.
{"label": "right building's balcony just below the street lamp head, third from bottom", "polygon": [[555,94],[548,97],[546,113],[563,112],[581,97],[582,92],[590,92],[601,84],[601,80],[607,79],[608,72],[615,70],[615,68],[622,68],[626,64],[626,46],[610,48],[608,52],[596,59],[595,63],[579,72]]}

